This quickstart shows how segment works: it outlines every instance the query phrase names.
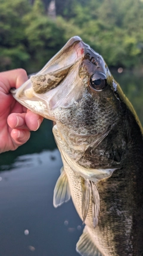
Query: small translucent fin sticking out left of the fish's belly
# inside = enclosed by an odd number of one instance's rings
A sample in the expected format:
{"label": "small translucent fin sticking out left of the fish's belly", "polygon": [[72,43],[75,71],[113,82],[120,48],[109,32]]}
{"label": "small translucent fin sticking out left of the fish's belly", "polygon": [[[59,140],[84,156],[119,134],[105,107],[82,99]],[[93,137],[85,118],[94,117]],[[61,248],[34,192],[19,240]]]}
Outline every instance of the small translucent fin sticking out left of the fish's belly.
{"label": "small translucent fin sticking out left of the fish's belly", "polygon": [[69,182],[67,180],[67,174],[62,168],[61,175],[58,178],[54,188],[54,197],[53,197],[54,207],[58,207],[69,200],[70,200]]}

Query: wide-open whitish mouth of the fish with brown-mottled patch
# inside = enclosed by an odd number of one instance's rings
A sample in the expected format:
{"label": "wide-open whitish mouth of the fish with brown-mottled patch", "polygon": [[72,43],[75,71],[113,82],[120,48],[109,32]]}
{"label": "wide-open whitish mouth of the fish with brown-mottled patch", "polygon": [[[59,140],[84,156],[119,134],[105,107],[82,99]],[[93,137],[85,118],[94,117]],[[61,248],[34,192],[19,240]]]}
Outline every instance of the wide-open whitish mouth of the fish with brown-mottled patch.
{"label": "wide-open whitish mouth of the fish with brown-mottled patch", "polygon": [[[77,36],[70,38],[60,52],[58,52],[39,73],[30,76],[30,79],[21,85],[20,88],[11,89],[13,97],[20,104],[27,107],[27,109],[32,110],[32,112],[54,120],[50,110],[59,106],[59,104],[55,102],[59,101],[59,91],[64,90],[64,81],[67,80],[66,82],[68,83],[68,79],[71,80],[73,68],[79,67],[79,63],[84,56],[85,44],[82,42],[82,39]],[[72,77],[72,79],[76,80],[77,77]],[[61,88],[61,84],[64,85],[63,88]],[[54,91],[58,87],[59,89]],[[67,91],[66,93],[63,92],[62,98],[65,99],[66,96],[69,95]],[[51,92],[52,97],[50,96]],[[58,99],[55,97],[56,94],[58,94]],[[67,100],[63,101],[63,106],[68,107]]]}

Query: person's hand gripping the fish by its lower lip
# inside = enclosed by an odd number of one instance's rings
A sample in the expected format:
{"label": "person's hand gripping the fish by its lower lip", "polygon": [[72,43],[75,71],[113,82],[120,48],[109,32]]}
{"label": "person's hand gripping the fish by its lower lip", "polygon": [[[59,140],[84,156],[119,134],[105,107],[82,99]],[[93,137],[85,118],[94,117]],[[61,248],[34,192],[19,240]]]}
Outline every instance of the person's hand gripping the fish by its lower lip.
{"label": "person's hand gripping the fish by its lower lip", "polygon": [[20,87],[27,79],[23,69],[0,73],[0,153],[26,143],[30,131],[36,131],[43,121],[42,116],[27,110],[10,94],[11,88]]}

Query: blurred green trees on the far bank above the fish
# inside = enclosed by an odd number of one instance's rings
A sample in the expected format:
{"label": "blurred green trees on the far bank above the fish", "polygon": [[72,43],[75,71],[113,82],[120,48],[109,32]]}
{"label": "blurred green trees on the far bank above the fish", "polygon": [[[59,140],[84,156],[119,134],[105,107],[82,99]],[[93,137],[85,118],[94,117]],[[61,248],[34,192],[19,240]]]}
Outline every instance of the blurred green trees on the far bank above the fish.
{"label": "blurred green trees on the far bank above the fish", "polygon": [[[110,67],[135,68],[143,61],[141,0],[0,0],[0,69],[42,68],[74,35],[99,52]],[[43,4],[44,3],[44,4]]]}

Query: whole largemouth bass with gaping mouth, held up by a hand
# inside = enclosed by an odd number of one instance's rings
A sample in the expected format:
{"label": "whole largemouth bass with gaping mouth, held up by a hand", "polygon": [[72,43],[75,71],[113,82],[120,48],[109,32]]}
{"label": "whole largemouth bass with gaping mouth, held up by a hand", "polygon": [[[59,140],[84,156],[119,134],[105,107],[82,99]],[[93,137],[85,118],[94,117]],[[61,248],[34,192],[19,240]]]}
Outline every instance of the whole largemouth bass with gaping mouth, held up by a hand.
{"label": "whole largemouth bass with gaping mouth, held up by a hand", "polygon": [[56,122],[63,168],[54,206],[71,197],[85,223],[77,252],[143,255],[142,127],[104,59],[73,37],[12,92],[25,107]]}

